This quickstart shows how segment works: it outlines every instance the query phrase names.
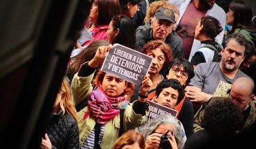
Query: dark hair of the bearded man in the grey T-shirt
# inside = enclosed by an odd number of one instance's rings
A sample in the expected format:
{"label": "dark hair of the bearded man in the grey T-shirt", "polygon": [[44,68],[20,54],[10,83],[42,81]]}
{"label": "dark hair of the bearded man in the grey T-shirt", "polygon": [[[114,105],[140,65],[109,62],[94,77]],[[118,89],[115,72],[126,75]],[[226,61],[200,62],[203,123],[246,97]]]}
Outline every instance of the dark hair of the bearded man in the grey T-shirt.
{"label": "dark hair of the bearded man in the grey T-shirt", "polygon": [[224,41],[223,48],[226,48],[227,44],[228,44],[232,39],[235,39],[235,41],[238,42],[238,44],[244,45],[244,47],[245,47],[244,56],[245,56],[246,53],[247,53],[247,50],[249,49],[249,41],[247,41],[247,39],[246,39],[243,35],[241,35],[241,34],[233,33],[232,35],[230,35],[230,36],[227,38],[227,40]]}

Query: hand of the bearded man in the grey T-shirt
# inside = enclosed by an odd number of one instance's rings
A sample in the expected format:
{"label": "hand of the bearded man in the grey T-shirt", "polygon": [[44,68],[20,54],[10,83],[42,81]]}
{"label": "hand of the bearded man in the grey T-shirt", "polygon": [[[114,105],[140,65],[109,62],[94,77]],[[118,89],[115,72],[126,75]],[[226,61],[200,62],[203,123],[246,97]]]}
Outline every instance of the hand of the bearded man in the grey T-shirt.
{"label": "hand of the bearded man in the grey T-shirt", "polygon": [[191,100],[191,102],[197,102],[202,104],[207,102],[213,96],[211,94],[204,93],[202,91],[189,89],[186,91],[185,96]]}

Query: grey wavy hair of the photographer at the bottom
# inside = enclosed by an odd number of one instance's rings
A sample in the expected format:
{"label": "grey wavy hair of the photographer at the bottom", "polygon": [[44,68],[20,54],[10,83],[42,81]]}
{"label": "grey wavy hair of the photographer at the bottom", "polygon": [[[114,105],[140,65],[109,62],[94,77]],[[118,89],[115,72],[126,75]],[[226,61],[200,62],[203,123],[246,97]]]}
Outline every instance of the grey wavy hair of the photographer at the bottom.
{"label": "grey wavy hair of the photographer at the bottom", "polygon": [[152,134],[161,124],[171,124],[174,127],[173,132],[177,142],[177,147],[182,149],[185,143],[183,141],[185,131],[179,119],[175,118],[175,116],[172,116],[171,114],[159,115],[151,121],[146,122],[144,125],[141,125],[141,127],[136,128],[136,130],[143,134],[144,139],[147,139],[148,136]]}

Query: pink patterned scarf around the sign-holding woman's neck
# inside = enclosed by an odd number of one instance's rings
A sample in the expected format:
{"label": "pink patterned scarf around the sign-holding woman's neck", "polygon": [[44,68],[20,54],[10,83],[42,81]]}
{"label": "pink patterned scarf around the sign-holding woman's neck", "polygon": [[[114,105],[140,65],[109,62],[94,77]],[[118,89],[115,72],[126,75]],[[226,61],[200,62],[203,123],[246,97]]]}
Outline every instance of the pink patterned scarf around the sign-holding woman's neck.
{"label": "pink patterned scarf around the sign-holding woman's neck", "polygon": [[101,86],[91,91],[91,101],[88,101],[88,111],[84,114],[84,119],[88,118],[89,113],[95,118],[96,122],[105,125],[110,119],[125,109],[129,100],[125,96],[110,98],[104,93]]}

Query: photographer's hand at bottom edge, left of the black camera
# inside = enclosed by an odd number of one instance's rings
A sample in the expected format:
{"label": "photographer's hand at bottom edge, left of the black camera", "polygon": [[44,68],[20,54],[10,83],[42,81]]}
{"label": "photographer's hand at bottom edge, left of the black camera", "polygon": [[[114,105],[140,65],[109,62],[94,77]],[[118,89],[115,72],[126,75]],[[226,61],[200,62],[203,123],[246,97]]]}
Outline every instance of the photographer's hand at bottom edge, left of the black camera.
{"label": "photographer's hand at bottom edge, left of the black camera", "polygon": [[162,134],[159,133],[152,133],[151,135],[149,135],[145,142],[145,149],[159,148],[161,136]]}

